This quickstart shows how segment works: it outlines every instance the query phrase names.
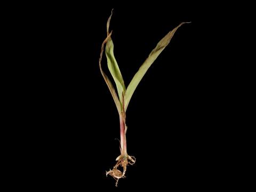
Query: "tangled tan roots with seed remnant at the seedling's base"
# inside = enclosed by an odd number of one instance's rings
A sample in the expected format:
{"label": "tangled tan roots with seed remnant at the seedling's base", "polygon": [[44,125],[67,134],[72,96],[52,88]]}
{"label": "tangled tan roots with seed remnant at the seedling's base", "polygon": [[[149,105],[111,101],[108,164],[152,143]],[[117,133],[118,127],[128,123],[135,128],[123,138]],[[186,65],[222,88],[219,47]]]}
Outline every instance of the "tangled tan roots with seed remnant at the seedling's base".
{"label": "tangled tan roots with seed remnant at the seedling's base", "polygon": [[[116,180],[116,187],[117,187],[118,180],[121,178],[125,178],[126,166],[129,164],[133,165],[136,159],[135,157],[130,155],[125,155],[125,156],[120,155],[116,158],[116,160],[117,160],[117,163],[113,167],[113,170],[106,171],[106,176],[108,176],[108,174],[111,175]],[[117,169],[119,166],[123,167],[123,172]]]}

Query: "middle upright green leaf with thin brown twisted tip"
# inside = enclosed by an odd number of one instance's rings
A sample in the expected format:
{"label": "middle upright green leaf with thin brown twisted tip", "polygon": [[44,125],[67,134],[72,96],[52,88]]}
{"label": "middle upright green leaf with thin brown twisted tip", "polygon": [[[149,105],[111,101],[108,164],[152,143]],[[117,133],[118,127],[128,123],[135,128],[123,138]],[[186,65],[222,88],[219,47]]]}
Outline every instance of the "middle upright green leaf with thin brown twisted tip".
{"label": "middle upright green leaf with thin brown twisted tip", "polygon": [[[112,16],[112,12],[111,12],[111,15],[108,18],[108,22],[107,22],[107,35],[109,35],[109,23],[110,23],[111,16]],[[106,51],[105,52],[106,52],[106,57],[107,57],[107,62],[108,62],[108,69],[116,83],[119,101],[122,104],[122,94],[125,93],[125,85],[124,85],[124,80],[123,80],[121,71],[118,67],[118,64],[117,64],[115,56],[114,56],[114,44],[113,44],[111,37],[108,38],[108,41],[106,43]]]}

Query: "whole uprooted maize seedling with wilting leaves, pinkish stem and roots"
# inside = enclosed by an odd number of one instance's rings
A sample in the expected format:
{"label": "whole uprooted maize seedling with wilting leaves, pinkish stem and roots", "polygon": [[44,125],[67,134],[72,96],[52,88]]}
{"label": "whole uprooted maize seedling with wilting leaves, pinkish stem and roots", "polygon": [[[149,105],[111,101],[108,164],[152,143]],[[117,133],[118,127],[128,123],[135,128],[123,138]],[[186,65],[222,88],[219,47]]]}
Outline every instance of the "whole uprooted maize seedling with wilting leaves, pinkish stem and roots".
{"label": "whole uprooted maize seedling with wilting leaves, pinkish stem and roots", "polygon": [[[170,40],[173,37],[175,31],[186,22],[180,23],[179,26],[177,26],[173,30],[171,30],[167,35],[164,36],[164,38],[161,39],[161,41],[158,42],[155,49],[153,51],[151,51],[148,58],[142,64],[142,66],[139,68],[138,72],[134,75],[131,83],[129,84],[129,86],[126,89],[125,85],[124,85],[124,80],[123,80],[122,74],[119,70],[116,59],[114,57],[114,44],[111,39],[112,31],[109,33],[109,23],[110,23],[111,16],[112,16],[112,12],[107,21],[107,38],[103,41],[103,43],[101,45],[99,65],[100,65],[101,74],[102,74],[103,78],[105,79],[105,81],[108,85],[108,88],[110,90],[110,93],[115,101],[116,108],[117,108],[117,111],[119,114],[119,119],[120,119],[121,155],[119,155],[116,158],[117,163],[113,167],[113,169],[106,172],[106,175],[109,174],[114,179],[116,179],[116,186],[117,186],[118,180],[125,177],[126,166],[129,164],[133,165],[135,163],[135,158],[133,156],[128,155],[127,150],[126,150],[127,126],[125,124],[125,119],[126,119],[125,112],[126,112],[127,106],[129,105],[129,102],[131,100],[131,97],[132,97],[136,87],[138,86],[142,77],[145,75],[148,68],[152,65],[152,63],[156,60],[156,58],[164,50],[164,48],[170,43]],[[101,68],[101,59],[102,59],[102,53],[103,53],[105,44],[106,44],[105,53],[106,53],[106,57],[107,57],[108,69],[115,81],[117,93],[115,91],[114,86],[111,84],[109,78],[103,72],[103,70]],[[123,172],[118,170],[119,166],[123,167],[123,169],[122,169]]]}

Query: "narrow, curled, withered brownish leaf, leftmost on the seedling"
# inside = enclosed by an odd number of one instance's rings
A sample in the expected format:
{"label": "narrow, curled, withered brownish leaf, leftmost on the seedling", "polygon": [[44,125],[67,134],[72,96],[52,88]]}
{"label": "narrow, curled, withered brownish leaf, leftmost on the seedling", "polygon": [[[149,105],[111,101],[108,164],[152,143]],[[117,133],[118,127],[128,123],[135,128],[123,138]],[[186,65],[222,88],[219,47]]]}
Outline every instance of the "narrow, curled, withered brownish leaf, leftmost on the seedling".
{"label": "narrow, curled, withered brownish leaf, leftmost on the seedling", "polygon": [[[111,32],[112,33],[112,32]],[[117,94],[116,94],[116,91],[115,91],[115,88],[113,87],[112,83],[110,82],[108,76],[103,72],[102,68],[101,68],[101,59],[102,59],[102,53],[103,53],[103,50],[104,50],[104,45],[105,43],[108,41],[108,39],[110,38],[111,36],[111,33],[108,34],[107,38],[103,41],[102,45],[101,45],[101,52],[100,52],[100,59],[99,59],[99,66],[100,66],[100,72],[103,76],[103,78],[105,79],[105,82],[107,83],[108,85],[108,89],[115,101],[115,104],[116,104],[116,108],[118,110],[118,113],[121,114],[121,105],[120,105],[120,102],[118,100],[118,97],[117,97]]]}

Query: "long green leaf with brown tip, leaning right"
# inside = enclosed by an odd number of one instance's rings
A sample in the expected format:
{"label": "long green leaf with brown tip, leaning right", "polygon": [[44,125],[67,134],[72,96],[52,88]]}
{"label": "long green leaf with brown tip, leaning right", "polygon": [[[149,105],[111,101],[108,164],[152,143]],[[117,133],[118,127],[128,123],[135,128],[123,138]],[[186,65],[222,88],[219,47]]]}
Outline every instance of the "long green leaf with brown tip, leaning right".
{"label": "long green leaf with brown tip, leaning right", "polygon": [[138,72],[134,75],[132,78],[131,83],[127,87],[127,90],[125,92],[125,111],[127,109],[127,106],[129,105],[129,102],[131,100],[131,97],[140,83],[142,77],[146,74],[148,68],[152,65],[152,63],[156,60],[158,55],[164,50],[164,48],[170,43],[171,38],[173,37],[175,31],[186,22],[180,23],[179,26],[175,27],[172,31],[170,31],[167,35],[165,35],[164,38],[161,39],[161,41],[158,42],[155,49],[151,51],[146,61],[141,65]]}

